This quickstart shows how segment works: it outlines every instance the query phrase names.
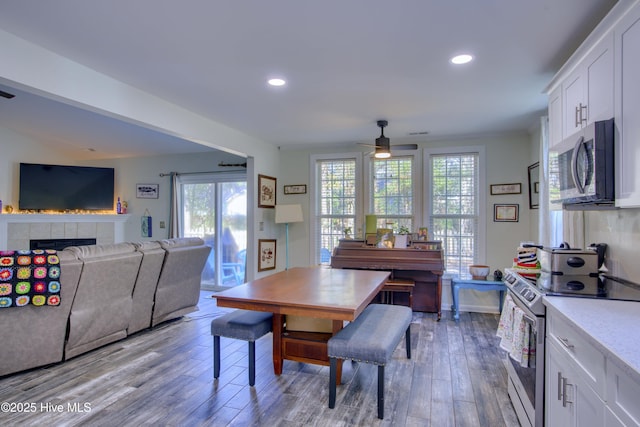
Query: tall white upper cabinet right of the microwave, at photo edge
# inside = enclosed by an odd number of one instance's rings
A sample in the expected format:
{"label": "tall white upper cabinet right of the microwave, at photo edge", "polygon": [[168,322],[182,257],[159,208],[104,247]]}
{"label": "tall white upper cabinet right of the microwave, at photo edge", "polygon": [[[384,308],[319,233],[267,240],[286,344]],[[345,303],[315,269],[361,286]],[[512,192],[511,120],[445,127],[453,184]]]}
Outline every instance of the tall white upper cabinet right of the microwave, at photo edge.
{"label": "tall white upper cabinet right of the microwave, at photo edge", "polygon": [[640,6],[614,27],[616,206],[640,206]]}

